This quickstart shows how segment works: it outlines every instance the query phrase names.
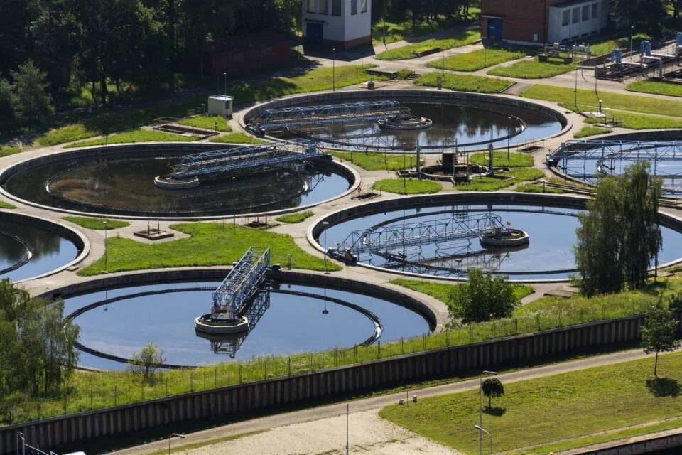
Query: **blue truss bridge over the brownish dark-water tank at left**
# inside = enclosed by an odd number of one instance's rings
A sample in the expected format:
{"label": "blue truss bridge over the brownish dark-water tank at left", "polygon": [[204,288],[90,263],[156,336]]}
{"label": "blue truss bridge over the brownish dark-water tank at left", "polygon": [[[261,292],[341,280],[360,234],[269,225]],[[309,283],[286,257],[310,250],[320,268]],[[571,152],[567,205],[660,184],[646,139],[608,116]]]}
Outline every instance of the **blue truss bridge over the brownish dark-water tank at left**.
{"label": "blue truss bridge over the brownish dark-water tank at left", "polygon": [[313,141],[288,141],[280,144],[244,146],[204,151],[183,156],[171,178],[183,179],[205,174],[236,171],[258,166],[273,166],[305,159],[325,158]]}

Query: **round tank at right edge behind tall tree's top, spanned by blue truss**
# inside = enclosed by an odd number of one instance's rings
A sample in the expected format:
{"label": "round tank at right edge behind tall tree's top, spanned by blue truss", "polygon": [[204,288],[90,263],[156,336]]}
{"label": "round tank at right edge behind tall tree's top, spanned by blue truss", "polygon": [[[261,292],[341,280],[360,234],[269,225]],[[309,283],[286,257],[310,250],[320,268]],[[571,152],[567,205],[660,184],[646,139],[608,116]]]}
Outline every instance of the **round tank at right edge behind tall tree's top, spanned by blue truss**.
{"label": "round tank at right edge behind tall tree's top, spanned by blue truss", "polygon": [[649,161],[651,174],[664,178],[666,193],[682,193],[682,141],[566,141],[547,161],[587,182],[617,176],[629,164]]}

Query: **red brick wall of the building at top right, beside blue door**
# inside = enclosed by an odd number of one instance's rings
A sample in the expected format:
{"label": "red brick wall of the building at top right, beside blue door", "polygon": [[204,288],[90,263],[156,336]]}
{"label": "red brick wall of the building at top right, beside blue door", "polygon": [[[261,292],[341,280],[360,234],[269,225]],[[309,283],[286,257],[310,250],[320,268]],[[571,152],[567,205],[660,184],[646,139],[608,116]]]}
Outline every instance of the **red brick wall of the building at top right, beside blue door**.
{"label": "red brick wall of the building at top right, beside blue door", "polygon": [[[481,0],[481,16],[501,16],[502,38],[511,41],[533,42],[537,33],[538,43],[546,41],[546,23],[549,6],[565,0]],[[481,18],[481,34],[487,36],[487,18]]]}

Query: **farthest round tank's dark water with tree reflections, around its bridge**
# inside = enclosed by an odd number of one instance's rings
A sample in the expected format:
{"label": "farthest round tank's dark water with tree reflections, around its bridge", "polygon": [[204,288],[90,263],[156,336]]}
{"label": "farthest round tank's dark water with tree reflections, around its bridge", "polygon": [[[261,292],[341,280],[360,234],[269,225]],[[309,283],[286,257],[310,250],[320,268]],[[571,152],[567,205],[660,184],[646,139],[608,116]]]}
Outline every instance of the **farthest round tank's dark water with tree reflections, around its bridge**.
{"label": "farthest round tank's dark water with tree reflections, around its bridge", "polygon": [[[269,132],[274,139],[306,137],[337,149],[413,151],[485,149],[523,144],[561,132],[568,120],[560,112],[526,102],[491,95],[435,90],[379,90],[338,92],[289,97],[259,105],[244,114],[250,124],[266,109],[334,105],[344,102],[391,100],[414,119],[413,126],[383,127],[377,120],[333,124],[302,124],[295,129]],[[420,120],[421,121],[418,121]],[[390,122],[389,122],[390,125]]]}

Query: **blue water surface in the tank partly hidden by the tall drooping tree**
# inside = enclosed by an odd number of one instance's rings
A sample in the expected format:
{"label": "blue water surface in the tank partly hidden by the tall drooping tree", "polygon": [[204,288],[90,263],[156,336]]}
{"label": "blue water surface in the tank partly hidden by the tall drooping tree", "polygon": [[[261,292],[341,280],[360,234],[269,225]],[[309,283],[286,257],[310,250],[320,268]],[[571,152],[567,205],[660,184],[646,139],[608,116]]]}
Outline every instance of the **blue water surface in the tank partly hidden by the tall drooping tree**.
{"label": "blue water surface in the tank partly hidden by the tall drooping tree", "polygon": [[[444,213],[445,212],[445,213]],[[494,213],[502,223],[511,228],[529,233],[527,247],[486,249],[477,237],[469,241],[448,242],[440,245],[422,245],[396,250],[394,254],[404,255],[411,264],[400,264],[379,255],[366,254],[361,262],[389,267],[408,272],[457,277],[469,267],[477,267],[511,279],[567,278],[575,274],[573,245],[577,240],[578,210],[532,205],[448,205],[411,210],[394,210],[347,220],[327,230],[327,245],[335,247],[343,242],[349,232],[366,230],[390,220],[389,225],[399,227],[402,223],[444,220],[467,213]],[[418,215],[413,217],[413,215]],[[404,219],[404,221],[403,221]],[[661,228],[663,250],[659,264],[682,257],[682,235],[669,228]],[[415,264],[419,264],[419,266]],[[424,267],[424,266],[428,267]]]}

